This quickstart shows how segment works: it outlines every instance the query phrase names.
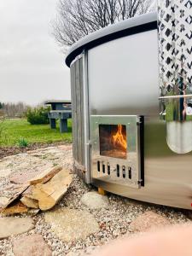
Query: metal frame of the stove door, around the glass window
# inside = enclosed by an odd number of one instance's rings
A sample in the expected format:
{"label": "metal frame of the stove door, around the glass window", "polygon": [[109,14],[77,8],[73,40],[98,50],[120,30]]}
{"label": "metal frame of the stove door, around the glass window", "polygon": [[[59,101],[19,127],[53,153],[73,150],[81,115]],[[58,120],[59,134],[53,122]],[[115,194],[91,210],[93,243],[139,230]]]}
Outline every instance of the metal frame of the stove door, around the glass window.
{"label": "metal frame of the stove door, around the glass window", "polygon": [[[90,181],[102,180],[140,189],[143,184],[141,150],[141,126],[143,118],[137,115],[91,115],[90,116]],[[118,159],[100,154],[99,125],[125,125],[127,138],[127,158]],[[129,137],[134,137],[129,139]],[[100,166],[100,171],[98,171]],[[104,166],[104,167],[103,167]],[[108,167],[109,166],[109,167]],[[109,170],[109,171],[108,171]],[[108,174],[110,173],[110,174]],[[119,175],[119,176],[118,176]],[[130,176],[131,175],[131,176]]]}

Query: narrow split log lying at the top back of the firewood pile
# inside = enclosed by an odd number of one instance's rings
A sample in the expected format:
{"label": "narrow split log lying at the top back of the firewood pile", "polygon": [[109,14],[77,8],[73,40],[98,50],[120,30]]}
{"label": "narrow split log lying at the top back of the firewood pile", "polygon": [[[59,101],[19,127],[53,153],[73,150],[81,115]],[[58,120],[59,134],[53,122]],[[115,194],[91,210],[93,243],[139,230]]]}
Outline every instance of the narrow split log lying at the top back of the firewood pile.
{"label": "narrow split log lying at the top back of the firewood pile", "polygon": [[38,183],[46,183],[55,176],[56,173],[60,172],[62,170],[61,166],[57,166],[48,170],[45,170],[44,172],[40,173],[37,177],[32,178],[29,183],[30,185],[35,185]]}

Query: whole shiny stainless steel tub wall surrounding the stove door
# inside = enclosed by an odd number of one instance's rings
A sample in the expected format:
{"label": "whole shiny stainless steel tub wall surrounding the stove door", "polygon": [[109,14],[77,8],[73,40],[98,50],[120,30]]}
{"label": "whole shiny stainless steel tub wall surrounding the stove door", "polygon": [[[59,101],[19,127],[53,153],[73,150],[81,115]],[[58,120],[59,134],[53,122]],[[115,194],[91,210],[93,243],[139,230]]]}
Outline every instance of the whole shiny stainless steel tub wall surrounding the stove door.
{"label": "whole shiny stainless steel tub wall surrounding the stove door", "polygon": [[[160,120],[157,32],[120,38],[88,52],[90,114],[144,115],[145,184],[141,189],[93,179],[110,192],[191,209],[192,154],[176,154]],[[102,61],[101,61],[102,60]]]}

